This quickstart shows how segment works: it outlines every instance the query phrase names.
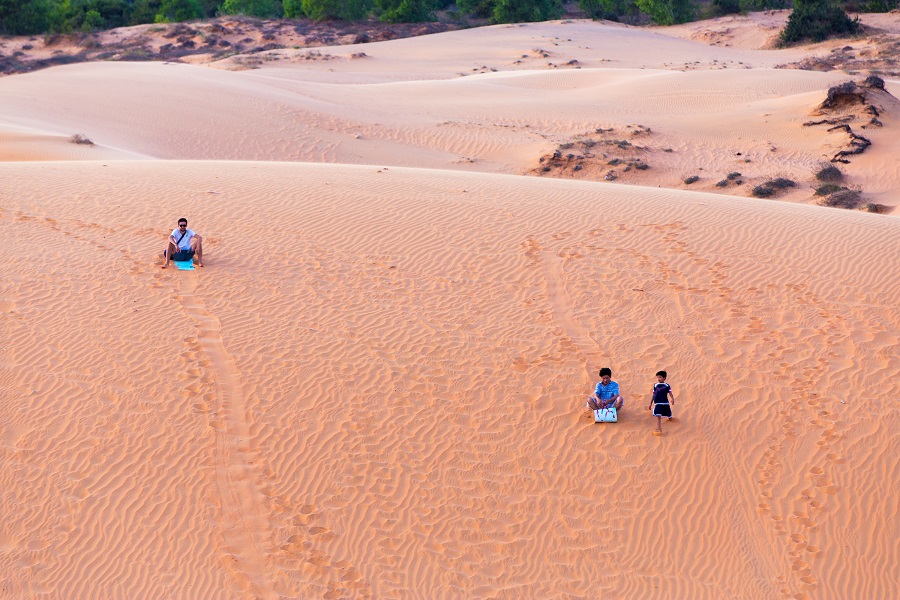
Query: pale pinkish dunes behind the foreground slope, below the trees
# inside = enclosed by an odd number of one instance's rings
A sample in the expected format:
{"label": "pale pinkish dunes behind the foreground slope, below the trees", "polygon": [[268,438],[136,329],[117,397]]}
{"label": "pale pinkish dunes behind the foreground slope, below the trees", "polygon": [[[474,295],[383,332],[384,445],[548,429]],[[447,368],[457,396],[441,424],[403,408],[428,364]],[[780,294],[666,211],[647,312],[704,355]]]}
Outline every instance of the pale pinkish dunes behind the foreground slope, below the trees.
{"label": "pale pinkish dunes behind the foreground slope, below the trees", "polygon": [[[0,153],[8,161],[265,160],[543,176],[539,161],[556,148],[597,130],[612,131],[608,141],[631,140],[630,128],[640,127],[648,169],[608,168],[621,157],[604,152],[596,164],[566,164],[549,176],[669,189],[688,189],[684,181],[698,177],[690,189],[741,196],[783,177],[797,185],[781,200],[815,204],[814,175],[845,139],[802,125],[830,86],[857,71],[783,67],[838,55],[888,60],[898,32],[868,15],[881,33],[851,46],[773,50],[743,37],[785,18],[721,19],[705,30],[579,20],[494,26],[270,50],[254,55],[258,68],[240,71],[229,69],[246,56],[55,67],[0,78]],[[713,30],[715,39],[697,35]],[[896,99],[896,77],[885,79]],[[900,192],[898,116],[889,108],[870,132],[871,150],[845,168],[845,185],[880,212],[892,212]],[[44,142],[15,133],[22,130]],[[65,142],[76,133],[95,146],[73,150]],[[740,183],[730,185],[725,177],[734,173]]]}

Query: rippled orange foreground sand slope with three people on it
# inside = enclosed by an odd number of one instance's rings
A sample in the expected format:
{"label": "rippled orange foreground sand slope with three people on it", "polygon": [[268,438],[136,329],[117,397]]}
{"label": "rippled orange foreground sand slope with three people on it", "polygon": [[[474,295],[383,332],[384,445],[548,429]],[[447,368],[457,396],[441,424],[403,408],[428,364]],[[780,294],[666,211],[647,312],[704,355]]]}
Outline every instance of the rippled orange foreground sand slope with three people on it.
{"label": "rippled orange foreground sand slope with three people on it", "polygon": [[[896,219],[395,168],[0,169],[10,597],[897,591]],[[202,271],[148,261],[176,213]],[[580,398],[605,364],[629,405],[604,427]],[[659,368],[679,420],[654,438]]]}

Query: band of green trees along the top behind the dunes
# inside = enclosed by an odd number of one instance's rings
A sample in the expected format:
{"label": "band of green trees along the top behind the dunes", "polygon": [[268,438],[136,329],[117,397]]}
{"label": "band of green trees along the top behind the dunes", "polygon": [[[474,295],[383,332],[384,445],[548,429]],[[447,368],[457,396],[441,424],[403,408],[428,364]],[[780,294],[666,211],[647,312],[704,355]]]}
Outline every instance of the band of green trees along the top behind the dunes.
{"label": "band of green trees along the top behind the dunes", "polygon": [[[888,12],[900,0],[578,0],[577,4],[591,19],[659,25],[793,8],[783,35],[791,42],[853,33],[858,24],[847,11]],[[90,33],[220,15],[411,23],[434,20],[439,13],[459,20],[521,23],[558,19],[565,10],[563,0],[0,0],[0,34]]]}

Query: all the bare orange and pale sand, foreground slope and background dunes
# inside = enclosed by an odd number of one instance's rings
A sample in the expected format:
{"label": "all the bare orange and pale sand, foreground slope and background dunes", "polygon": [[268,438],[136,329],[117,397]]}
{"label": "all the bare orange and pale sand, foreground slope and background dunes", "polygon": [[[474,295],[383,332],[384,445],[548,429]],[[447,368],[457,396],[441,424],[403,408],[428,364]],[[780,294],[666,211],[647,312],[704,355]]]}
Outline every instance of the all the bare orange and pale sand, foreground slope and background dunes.
{"label": "all the bare orange and pale sand, foreground slope and background dunes", "polygon": [[[0,79],[0,597],[897,596],[900,221],[816,205],[802,126],[852,77],[665,32]],[[597,128],[650,168],[534,175]]]}

